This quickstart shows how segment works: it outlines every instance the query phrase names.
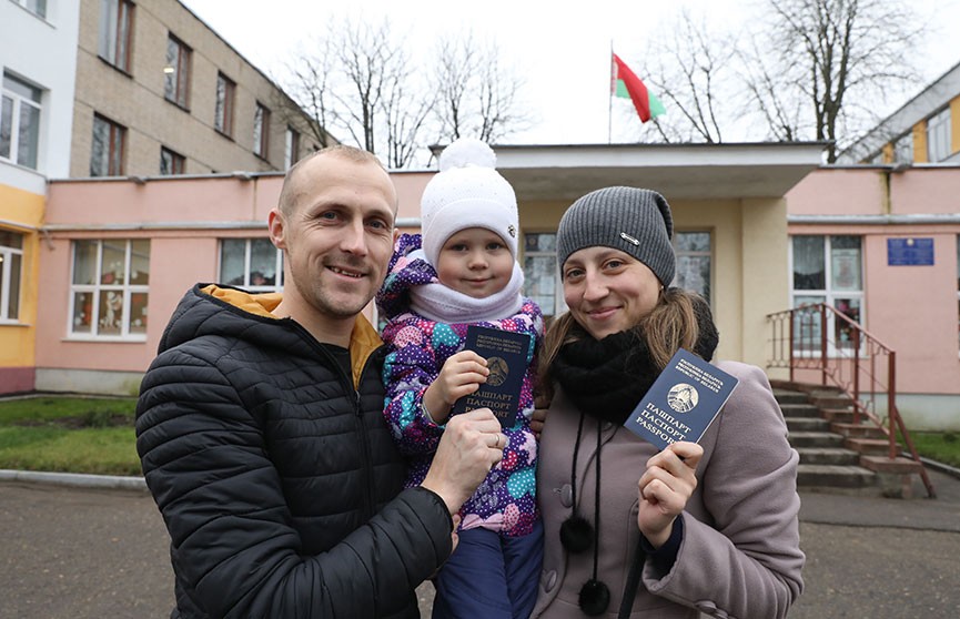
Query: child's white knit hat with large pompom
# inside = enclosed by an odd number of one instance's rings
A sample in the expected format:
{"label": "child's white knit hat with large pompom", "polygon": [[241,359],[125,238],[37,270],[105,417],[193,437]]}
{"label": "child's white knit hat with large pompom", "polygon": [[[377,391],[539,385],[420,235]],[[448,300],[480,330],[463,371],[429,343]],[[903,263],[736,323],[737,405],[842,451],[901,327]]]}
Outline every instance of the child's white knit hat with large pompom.
{"label": "child's white knit hat with large pompom", "polygon": [[517,196],[495,170],[496,154],[475,138],[456,140],[439,155],[439,172],[421,200],[423,251],[436,266],[447,239],[467,227],[497,233],[517,255]]}

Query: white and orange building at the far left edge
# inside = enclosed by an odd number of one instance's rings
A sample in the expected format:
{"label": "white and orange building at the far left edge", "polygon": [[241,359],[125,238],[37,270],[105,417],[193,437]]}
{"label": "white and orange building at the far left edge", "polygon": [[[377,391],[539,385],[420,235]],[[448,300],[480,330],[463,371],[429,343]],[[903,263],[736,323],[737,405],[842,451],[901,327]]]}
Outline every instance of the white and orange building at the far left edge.
{"label": "white and orange building at the far left edge", "polygon": [[0,2],[0,390],[33,386],[47,176],[65,176],[79,6]]}

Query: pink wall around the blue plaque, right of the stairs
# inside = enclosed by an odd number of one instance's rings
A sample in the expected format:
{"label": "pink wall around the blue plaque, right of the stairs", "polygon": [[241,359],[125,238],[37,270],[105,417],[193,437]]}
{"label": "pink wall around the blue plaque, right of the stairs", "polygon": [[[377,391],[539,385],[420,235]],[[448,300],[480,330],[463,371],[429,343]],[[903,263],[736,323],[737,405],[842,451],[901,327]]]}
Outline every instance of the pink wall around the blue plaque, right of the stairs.
{"label": "pink wall around the blue plaque, right of the stairs", "polygon": [[[787,195],[790,215],[942,215],[960,213],[960,169],[825,169]],[[845,207],[847,205],[847,207]],[[934,217],[936,219],[936,217]],[[897,352],[901,393],[960,394],[957,236],[960,221],[794,223],[790,234],[855,234],[863,241],[866,328]],[[888,264],[889,239],[933,240],[932,265]]]}

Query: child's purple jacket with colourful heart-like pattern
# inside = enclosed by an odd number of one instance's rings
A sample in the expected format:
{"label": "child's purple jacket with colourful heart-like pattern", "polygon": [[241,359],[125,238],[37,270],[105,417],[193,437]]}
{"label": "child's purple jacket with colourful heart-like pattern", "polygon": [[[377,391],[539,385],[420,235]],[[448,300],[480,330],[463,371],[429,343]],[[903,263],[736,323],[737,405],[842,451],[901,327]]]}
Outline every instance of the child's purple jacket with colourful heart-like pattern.
{"label": "child's purple jacket with colourful heart-like pattern", "polygon": [[[384,416],[401,450],[410,456],[408,486],[423,481],[444,430],[444,426],[424,414],[423,394],[439,375],[444,362],[463,349],[468,326],[467,323],[437,323],[410,311],[410,287],[437,282],[436,271],[426,261],[407,257],[420,246],[420,234],[400,237],[390,273],[377,294],[381,316],[388,321],[383,331],[383,341],[388,346],[383,368]],[[507,536],[526,535],[539,518],[535,477],[537,443],[529,418],[534,408],[536,347],[543,336],[543,314],[536,303],[524,298],[517,314],[474,324],[529,334],[527,358],[530,364],[523,380],[517,423],[504,429],[507,437],[504,458],[464,504],[461,527],[484,527]]]}

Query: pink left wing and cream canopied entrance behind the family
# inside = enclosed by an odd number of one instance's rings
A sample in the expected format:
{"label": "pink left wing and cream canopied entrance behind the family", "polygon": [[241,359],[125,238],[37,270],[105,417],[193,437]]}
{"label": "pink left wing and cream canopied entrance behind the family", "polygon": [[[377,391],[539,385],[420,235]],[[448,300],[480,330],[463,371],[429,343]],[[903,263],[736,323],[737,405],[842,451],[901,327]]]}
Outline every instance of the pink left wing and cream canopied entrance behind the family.
{"label": "pink left wing and cream canopied entrance behind the family", "polygon": [[[599,186],[650,186],[674,209],[678,283],[715,308],[718,354],[764,365],[756,334],[789,303],[784,196],[816,168],[822,145],[496,150],[519,203],[526,294],[547,315],[564,310],[555,235],[566,207]],[[432,175],[393,173],[400,227],[418,229]],[[281,184],[277,173],[51,182],[40,268],[65,284],[41,291],[37,388],[134,393],[189,286],[280,290],[282,255],[266,217]]]}

